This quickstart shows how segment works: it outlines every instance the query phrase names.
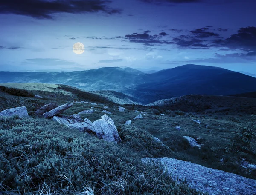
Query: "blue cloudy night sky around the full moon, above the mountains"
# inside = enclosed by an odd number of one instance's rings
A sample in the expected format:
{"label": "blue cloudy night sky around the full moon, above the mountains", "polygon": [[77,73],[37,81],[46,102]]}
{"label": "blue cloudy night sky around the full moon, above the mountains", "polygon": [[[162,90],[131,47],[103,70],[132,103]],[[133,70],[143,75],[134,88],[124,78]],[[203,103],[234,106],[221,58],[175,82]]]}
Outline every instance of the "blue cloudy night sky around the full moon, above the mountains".
{"label": "blue cloudy night sky around the full moon, above the mountains", "polygon": [[193,63],[256,74],[255,0],[0,0],[0,35],[0,71]]}

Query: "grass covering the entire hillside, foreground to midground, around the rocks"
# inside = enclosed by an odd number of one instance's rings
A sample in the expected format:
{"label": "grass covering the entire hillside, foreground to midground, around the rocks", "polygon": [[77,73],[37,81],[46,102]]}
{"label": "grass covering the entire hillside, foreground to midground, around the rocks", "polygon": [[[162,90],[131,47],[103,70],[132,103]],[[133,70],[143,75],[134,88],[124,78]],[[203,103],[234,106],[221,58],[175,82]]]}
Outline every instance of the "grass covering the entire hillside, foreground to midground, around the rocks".
{"label": "grass covering the entire hillside, foreground to midground, around the rocks", "polygon": [[[48,190],[52,194],[78,194],[92,189],[95,195],[196,193],[189,191],[187,185],[172,181],[169,175],[155,171],[154,167],[141,164],[140,159],[143,157],[176,158],[256,179],[255,170],[241,166],[243,159],[255,164],[255,155],[225,153],[227,143],[234,139],[232,132],[250,124],[250,113],[245,112],[244,108],[253,107],[252,100],[236,97],[232,97],[232,100],[221,97],[220,102],[212,100],[210,109],[218,112],[198,110],[200,99],[206,104],[211,100],[201,96],[195,108],[191,109],[192,112],[186,110],[187,104],[184,106],[181,103],[176,104],[176,109],[175,106],[151,108],[125,104],[122,105],[125,111],[119,112],[119,105],[104,97],[78,92],[76,88],[70,90],[68,86],[55,89],[60,93],[55,92],[57,98],[47,97],[52,93],[49,91],[32,90],[33,93],[37,92],[35,94],[45,96],[43,99],[17,97],[0,91],[0,111],[26,106],[34,117],[0,120],[0,169],[3,173],[0,174],[3,175],[0,176],[0,191],[6,190],[10,194],[47,194]],[[64,89],[67,96],[59,91]],[[107,143],[58,125],[51,119],[35,118],[33,114],[46,103],[61,105],[73,100],[96,102],[98,105],[74,103],[61,115],[69,116],[94,107],[93,114],[81,116],[95,121],[105,114],[102,112],[103,106],[109,106],[106,110],[113,114],[108,116],[115,122],[122,143]],[[241,106],[245,107],[236,110]],[[222,109],[229,109],[228,115]],[[143,115],[143,119],[133,120],[140,114],[134,113],[135,110],[146,115]],[[192,119],[200,120],[201,124],[192,122]],[[126,120],[132,120],[131,126],[123,125]],[[180,126],[181,130],[175,129],[175,126]],[[164,146],[155,143],[152,135],[159,138]],[[183,139],[184,135],[201,137],[201,149],[191,148]],[[255,140],[252,140],[252,147],[256,149]]]}

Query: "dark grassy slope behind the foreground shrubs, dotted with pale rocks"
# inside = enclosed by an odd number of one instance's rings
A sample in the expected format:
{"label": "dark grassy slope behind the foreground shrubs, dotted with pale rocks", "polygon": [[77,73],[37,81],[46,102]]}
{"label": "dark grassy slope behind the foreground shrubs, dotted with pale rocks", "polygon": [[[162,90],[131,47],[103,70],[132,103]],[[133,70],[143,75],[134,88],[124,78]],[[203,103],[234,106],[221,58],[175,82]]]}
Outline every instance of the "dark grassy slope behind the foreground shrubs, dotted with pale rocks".
{"label": "dark grassy slope behind the foreground shrubs, dotted with pale rocks", "polygon": [[[38,91],[39,93],[39,91]],[[43,93],[43,92],[42,92]],[[40,95],[40,94],[39,94]],[[208,99],[206,97],[199,96],[202,100]],[[198,97],[198,99],[200,99]],[[59,96],[58,100],[56,99],[35,99],[29,97],[15,97],[12,95],[4,94],[0,92],[0,110],[7,109],[15,106],[27,106],[29,111],[35,110],[39,105],[44,105],[45,103],[49,103],[49,101],[56,102],[59,105],[62,103],[67,103],[67,101],[73,100],[73,98],[78,98],[76,95],[69,95],[67,97]],[[6,100],[4,100],[6,98]],[[61,99],[62,98],[62,99]],[[66,99],[67,98],[67,99]],[[232,97],[233,98],[233,97]],[[92,99],[82,99],[80,100],[88,100],[93,101]],[[228,104],[227,99],[215,100],[221,104]],[[236,101],[239,100],[239,101]],[[236,106],[242,106],[245,103],[245,99],[243,98],[233,98],[233,101],[237,104]],[[95,102],[95,101],[94,101]],[[215,106],[214,101],[212,101],[212,106]],[[241,161],[242,158],[245,158],[250,163],[256,161],[256,157],[253,155],[245,155],[245,154],[236,154],[229,155],[224,153],[224,149],[230,139],[233,138],[231,134],[233,131],[237,130],[239,126],[244,127],[247,126],[250,119],[250,113],[242,112],[238,114],[237,112],[212,112],[205,114],[204,110],[197,110],[194,112],[182,112],[178,111],[178,109],[182,107],[175,107],[172,109],[166,109],[163,107],[155,107],[150,108],[147,106],[140,105],[123,105],[126,109],[125,112],[118,111],[118,105],[111,103],[109,101],[97,102],[99,105],[94,106],[93,109],[96,110],[93,114],[90,115],[82,115],[83,118],[88,118],[92,121],[97,120],[103,115],[101,111],[104,109],[103,104],[105,106],[109,106],[107,109],[111,111],[113,114],[109,115],[113,121],[115,122],[119,135],[122,138],[122,144],[116,146],[124,147],[124,151],[132,151],[136,152],[136,157],[133,159],[140,159],[141,157],[170,157],[177,158],[181,160],[191,161],[193,163],[198,163],[203,166],[212,167],[215,169],[221,169],[227,172],[233,172],[248,178],[256,178],[256,172],[249,172],[248,169],[245,169],[240,166],[240,163],[237,161]],[[249,105],[251,103],[251,105]],[[217,104],[216,104],[217,105]],[[256,105],[255,102],[247,102],[247,106]],[[76,114],[84,109],[90,109],[92,105],[90,104],[82,104],[75,103],[73,107],[67,109],[62,114],[63,115],[71,115]],[[186,105],[185,105],[186,106]],[[229,105],[230,106],[230,105]],[[232,107],[232,106],[230,106]],[[215,107],[211,107],[210,109],[214,109]],[[218,106],[215,108],[218,109]],[[132,121],[132,126],[125,127],[122,124],[125,123],[126,120],[132,120],[138,113],[134,113],[134,110],[139,110],[142,112],[146,112],[146,115],[143,115],[143,119]],[[192,109],[193,110],[193,109]],[[246,110],[246,109],[245,109]],[[187,110],[186,110],[187,111]],[[164,116],[159,115],[160,113],[164,113]],[[30,112],[32,114],[32,112]],[[193,123],[192,119],[201,120],[201,124]],[[35,119],[39,120],[39,119]],[[40,120],[41,121],[41,120]],[[58,128],[56,123],[50,122],[50,120],[43,120],[44,123],[48,121],[50,125],[53,125],[55,130]],[[47,123],[48,123],[47,122]],[[31,122],[31,124],[34,122]],[[208,125],[208,128],[205,126]],[[181,131],[175,129],[175,126],[180,126]],[[1,129],[1,128],[0,128]],[[6,129],[9,131],[10,129]],[[58,129],[58,131],[63,131]],[[13,132],[16,135],[17,132]],[[169,147],[166,148],[157,148],[155,144],[151,141],[151,135],[159,138],[163,143]],[[199,151],[196,148],[190,148],[188,143],[183,140],[183,135],[191,136],[193,138],[202,137],[203,141],[202,149]],[[82,135],[84,136],[84,135]],[[82,138],[84,139],[84,137]],[[102,141],[98,141],[102,142]],[[104,141],[103,141],[104,142]],[[253,142],[253,146],[255,148],[255,142]],[[117,149],[115,148],[115,149]],[[89,148],[92,149],[93,148]],[[112,151],[110,149],[110,151]],[[103,151],[102,151],[103,152]],[[104,153],[104,152],[103,152]],[[111,152],[110,152],[111,153]],[[133,156],[133,155],[131,155]],[[86,158],[86,156],[84,157]],[[224,159],[222,162],[221,159]],[[135,161],[135,160],[132,160]],[[137,163],[135,163],[137,166]],[[138,172],[137,172],[138,173]],[[99,178],[98,178],[99,179]],[[163,178],[165,182],[165,179]],[[140,193],[139,193],[140,194]],[[162,194],[165,194],[162,192]]]}

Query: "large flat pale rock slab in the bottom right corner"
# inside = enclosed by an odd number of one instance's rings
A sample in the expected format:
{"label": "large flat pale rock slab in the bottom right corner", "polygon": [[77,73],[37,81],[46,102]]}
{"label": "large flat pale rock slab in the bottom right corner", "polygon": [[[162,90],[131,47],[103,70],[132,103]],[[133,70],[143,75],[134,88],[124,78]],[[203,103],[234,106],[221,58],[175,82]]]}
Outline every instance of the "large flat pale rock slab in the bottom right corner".
{"label": "large flat pale rock slab in the bottom right corner", "polygon": [[143,163],[166,165],[172,178],[186,180],[191,188],[210,195],[255,195],[256,180],[174,158],[142,158]]}

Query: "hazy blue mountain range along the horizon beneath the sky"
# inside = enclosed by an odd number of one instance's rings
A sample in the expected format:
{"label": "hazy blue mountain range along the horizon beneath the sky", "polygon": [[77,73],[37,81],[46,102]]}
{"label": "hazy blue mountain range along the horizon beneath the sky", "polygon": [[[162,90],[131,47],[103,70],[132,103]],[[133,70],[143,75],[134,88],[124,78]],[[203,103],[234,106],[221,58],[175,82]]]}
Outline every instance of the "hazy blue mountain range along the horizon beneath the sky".
{"label": "hazy blue mountain range along the horizon beneath the sky", "polygon": [[88,91],[114,90],[151,103],[187,95],[231,95],[256,91],[256,78],[214,66],[187,64],[146,74],[128,67],[76,72],[0,72],[0,83],[65,84]]}

